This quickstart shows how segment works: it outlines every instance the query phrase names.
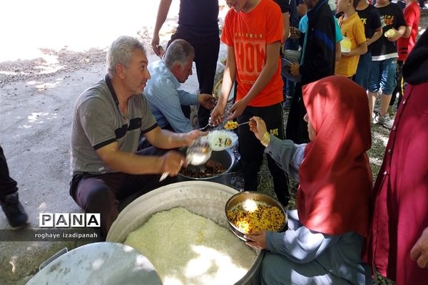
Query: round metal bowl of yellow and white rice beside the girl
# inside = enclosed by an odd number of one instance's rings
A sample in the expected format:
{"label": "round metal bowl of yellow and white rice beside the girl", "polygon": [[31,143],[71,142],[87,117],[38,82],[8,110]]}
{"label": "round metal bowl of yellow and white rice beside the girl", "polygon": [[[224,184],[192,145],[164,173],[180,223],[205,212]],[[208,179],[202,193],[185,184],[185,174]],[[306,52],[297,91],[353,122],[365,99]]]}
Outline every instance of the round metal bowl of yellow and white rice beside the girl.
{"label": "round metal bowl of yellow and white rice beside the girl", "polygon": [[259,192],[233,195],[225,205],[230,230],[240,239],[262,230],[282,232],[287,228],[287,213],[282,204]]}

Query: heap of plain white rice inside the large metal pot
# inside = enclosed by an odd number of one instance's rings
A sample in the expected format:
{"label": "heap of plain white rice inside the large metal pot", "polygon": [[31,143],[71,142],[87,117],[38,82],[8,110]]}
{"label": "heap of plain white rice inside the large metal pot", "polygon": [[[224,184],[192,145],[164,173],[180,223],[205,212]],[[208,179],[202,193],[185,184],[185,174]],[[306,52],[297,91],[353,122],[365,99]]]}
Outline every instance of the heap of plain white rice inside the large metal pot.
{"label": "heap of plain white rice inside the large metal pot", "polygon": [[125,244],[153,263],[164,285],[235,284],[257,258],[229,229],[183,207],[154,214]]}

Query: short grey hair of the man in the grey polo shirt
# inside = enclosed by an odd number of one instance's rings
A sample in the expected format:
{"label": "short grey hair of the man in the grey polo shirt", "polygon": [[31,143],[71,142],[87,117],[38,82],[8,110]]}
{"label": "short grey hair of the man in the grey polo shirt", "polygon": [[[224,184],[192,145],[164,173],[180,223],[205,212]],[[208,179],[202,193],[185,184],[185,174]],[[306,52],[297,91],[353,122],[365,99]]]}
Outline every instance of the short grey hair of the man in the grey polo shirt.
{"label": "short grey hair of the man in the grey polo shirt", "polygon": [[124,66],[129,67],[132,53],[136,48],[147,55],[145,44],[132,36],[119,36],[116,41],[113,41],[107,51],[108,75],[114,75],[118,63],[122,63]]}

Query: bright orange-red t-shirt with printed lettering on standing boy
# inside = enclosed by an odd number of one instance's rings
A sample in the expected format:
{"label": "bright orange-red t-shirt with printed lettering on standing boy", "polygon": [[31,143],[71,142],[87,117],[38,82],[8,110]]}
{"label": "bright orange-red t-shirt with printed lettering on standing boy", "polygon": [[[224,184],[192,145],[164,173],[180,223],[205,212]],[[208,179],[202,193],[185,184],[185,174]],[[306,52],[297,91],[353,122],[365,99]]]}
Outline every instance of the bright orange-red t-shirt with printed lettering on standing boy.
{"label": "bright orange-red t-shirt with printed lettering on standing boy", "polygon": [[[261,0],[248,12],[230,9],[225,18],[221,41],[235,50],[238,92],[236,99],[247,95],[266,65],[266,47],[282,40],[282,14],[280,6],[272,0]],[[275,74],[263,90],[248,105],[265,107],[280,103],[282,97],[281,59]]]}

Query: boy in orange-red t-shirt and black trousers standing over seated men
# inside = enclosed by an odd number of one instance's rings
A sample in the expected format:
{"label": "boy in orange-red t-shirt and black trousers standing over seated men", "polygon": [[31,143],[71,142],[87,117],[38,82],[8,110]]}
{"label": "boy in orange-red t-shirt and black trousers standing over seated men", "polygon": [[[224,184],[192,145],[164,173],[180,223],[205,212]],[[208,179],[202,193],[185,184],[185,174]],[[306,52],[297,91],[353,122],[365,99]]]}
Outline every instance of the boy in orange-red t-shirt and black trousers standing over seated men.
{"label": "boy in orange-red t-shirt and black trousers standing over seated men", "polygon": [[[225,18],[221,40],[228,46],[228,61],[211,122],[221,123],[220,116],[225,113],[228,94],[236,80],[236,101],[228,112],[228,120],[237,118],[238,123],[243,123],[253,116],[261,117],[272,135],[284,139],[280,7],[272,0],[227,0],[227,3],[231,9]],[[238,134],[244,189],[256,191],[265,147],[251,133],[248,125],[240,126]],[[267,155],[267,165],[277,197],[287,206],[290,199],[288,178],[270,155]]]}

